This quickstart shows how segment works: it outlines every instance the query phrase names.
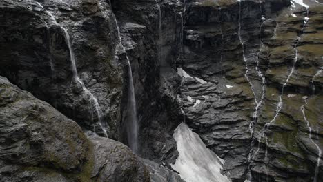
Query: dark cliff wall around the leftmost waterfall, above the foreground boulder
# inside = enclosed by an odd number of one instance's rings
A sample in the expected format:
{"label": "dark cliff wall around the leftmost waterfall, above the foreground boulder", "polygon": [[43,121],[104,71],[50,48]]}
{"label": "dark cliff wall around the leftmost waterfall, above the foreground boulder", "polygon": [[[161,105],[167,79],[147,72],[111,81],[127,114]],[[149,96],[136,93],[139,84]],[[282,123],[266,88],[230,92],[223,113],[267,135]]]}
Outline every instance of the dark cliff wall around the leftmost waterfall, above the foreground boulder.
{"label": "dark cliff wall around the leftmost waterfall, above the foreground boulder", "polygon": [[0,7],[1,75],[87,130],[102,134],[93,99],[75,81],[65,28],[78,76],[104,108],[104,128],[117,138],[123,79],[114,56],[116,26],[107,3],[1,1]]}

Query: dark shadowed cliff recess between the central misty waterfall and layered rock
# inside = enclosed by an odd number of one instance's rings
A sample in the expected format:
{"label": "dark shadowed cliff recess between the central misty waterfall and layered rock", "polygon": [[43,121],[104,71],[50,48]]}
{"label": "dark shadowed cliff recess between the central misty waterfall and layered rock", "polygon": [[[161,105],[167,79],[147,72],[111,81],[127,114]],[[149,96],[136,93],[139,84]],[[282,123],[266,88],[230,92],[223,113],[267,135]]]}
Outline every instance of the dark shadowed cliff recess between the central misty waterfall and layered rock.
{"label": "dark shadowed cliff recess between the central misty waterfall and layered rock", "polygon": [[139,155],[159,163],[174,162],[177,152],[172,133],[184,117],[178,116],[179,104],[175,100],[180,77],[168,68],[166,61],[173,64],[177,54],[174,48],[181,23],[174,10],[177,11],[178,5],[171,1],[111,3],[133,69],[140,128]]}

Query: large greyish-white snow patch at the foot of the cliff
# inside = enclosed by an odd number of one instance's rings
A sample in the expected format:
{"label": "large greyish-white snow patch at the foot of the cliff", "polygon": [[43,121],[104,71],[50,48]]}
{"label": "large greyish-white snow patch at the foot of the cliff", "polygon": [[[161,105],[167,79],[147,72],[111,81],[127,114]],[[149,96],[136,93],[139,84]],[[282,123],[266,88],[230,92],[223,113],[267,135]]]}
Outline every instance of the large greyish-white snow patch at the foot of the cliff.
{"label": "large greyish-white snow patch at the foot of the cliff", "polygon": [[186,182],[226,182],[222,175],[223,161],[206,148],[199,135],[192,132],[188,125],[181,123],[174,131],[179,156],[171,165]]}

